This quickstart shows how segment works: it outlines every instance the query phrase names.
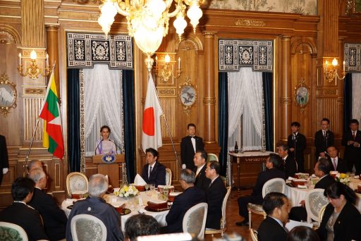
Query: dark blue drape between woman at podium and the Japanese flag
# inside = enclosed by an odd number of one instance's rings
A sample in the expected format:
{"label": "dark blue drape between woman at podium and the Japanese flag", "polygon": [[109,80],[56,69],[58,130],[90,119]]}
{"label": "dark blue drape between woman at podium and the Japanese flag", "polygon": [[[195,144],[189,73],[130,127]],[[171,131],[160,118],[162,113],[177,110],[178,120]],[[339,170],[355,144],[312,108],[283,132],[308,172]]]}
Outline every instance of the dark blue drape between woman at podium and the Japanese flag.
{"label": "dark blue drape between woman at podium and the Japanese flag", "polygon": [[128,182],[135,178],[134,71],[123,70],[124,149]]}

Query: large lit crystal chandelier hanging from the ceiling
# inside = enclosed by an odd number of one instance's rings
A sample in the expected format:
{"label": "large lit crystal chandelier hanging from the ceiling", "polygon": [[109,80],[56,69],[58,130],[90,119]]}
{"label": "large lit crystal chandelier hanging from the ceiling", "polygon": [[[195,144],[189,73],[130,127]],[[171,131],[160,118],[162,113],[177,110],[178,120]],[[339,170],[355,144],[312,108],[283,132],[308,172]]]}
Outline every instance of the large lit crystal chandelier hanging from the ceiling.
{"label": "large lit crystal chandelier hanging from the ceiling", "polygon": [[102,0],[103,4],[99,6],[101,14],[98,23],[102,26],[105,35],[108,35],[116,13],[126,16],[129,35],[134,37],[137,47],[147,55],[145,63],[150,71],[153,66],[151,56],[157,51],[161,40],[168,33],[169,18],[176,16],[173,25],[181,37],[187,26],[184,19],[187,6],[189,7],[187,16],[194,32],[202,17],[200,5],[205,0],[174,1],[176,1],[176,9],[169,13],[173,0]]}

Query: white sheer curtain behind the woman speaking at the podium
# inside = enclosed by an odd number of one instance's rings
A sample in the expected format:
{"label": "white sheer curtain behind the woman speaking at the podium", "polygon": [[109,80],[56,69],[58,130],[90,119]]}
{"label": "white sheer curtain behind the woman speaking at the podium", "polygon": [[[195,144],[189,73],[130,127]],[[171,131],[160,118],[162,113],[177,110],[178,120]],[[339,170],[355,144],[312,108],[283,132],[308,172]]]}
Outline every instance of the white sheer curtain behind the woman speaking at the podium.
{"label": "white sheer curtain behind the woman speaking at the podium", "polygon": [[102,125],[111,128],[110,139],[118,145],[118,153],[123,152],[121,74],[121,70],[109,70],[107,65],[102,64],[84,69],[85,156],[94,155]]}

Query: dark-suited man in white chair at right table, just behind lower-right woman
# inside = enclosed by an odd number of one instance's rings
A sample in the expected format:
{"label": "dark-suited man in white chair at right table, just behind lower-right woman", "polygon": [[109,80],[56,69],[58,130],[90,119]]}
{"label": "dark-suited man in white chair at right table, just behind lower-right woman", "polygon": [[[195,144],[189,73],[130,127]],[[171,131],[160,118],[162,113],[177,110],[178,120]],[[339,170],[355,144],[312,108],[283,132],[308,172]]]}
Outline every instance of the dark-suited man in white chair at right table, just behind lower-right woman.
{"label": "dark-suited man in white chair at right table, just behind lower-right woman", "polygon": [[[319,178],[319,181],[314,185],[314,188],[326,189],[336,180],[329,175],[331,171],[331,165],[329,161],[324,158],[320,158],[314,165],[314,175]],[[307,221],[307,211],[305,209],[305,200],[300,202],[301,206],[294,206],[290,209],[289,217],[295,221]]]}

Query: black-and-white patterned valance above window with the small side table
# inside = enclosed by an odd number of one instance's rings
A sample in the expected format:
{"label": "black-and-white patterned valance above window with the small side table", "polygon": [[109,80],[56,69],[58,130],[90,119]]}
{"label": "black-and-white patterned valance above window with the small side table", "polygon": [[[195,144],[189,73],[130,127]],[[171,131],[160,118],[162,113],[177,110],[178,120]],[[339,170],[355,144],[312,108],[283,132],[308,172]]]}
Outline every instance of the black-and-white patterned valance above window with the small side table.
{"label": "black-and-white patterned valance above window with the small side table", "polygon": [[219,39],[219,71],[238,71],[241,66],[272,71],[272,41]]}

